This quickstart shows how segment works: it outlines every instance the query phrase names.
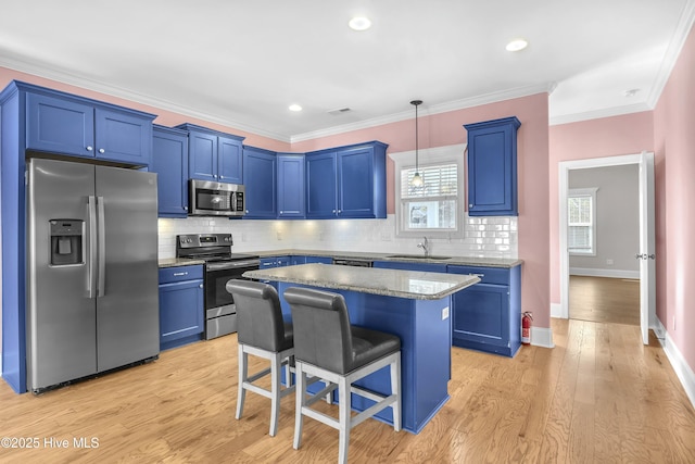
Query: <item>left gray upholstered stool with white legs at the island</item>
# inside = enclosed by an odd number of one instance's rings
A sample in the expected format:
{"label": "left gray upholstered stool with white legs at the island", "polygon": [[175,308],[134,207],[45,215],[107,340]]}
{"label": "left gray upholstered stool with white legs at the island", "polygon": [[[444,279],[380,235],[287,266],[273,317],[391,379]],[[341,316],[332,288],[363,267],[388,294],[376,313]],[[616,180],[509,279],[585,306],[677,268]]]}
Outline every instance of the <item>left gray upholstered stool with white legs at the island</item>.
{"label": "left gray upholstered stool with white legs at the island", "polygon": [[[267,284],[231,279],[227,283],[237,305],[239,339],[239,394],[237,418],[241,418],[247,390],[270,399],[270,436],[278,430],[280,399],[294,391],[289,361],[293,350],[292,324],[282,319],[277,290]],[[249,354],[270,361],[270,367],[249,376]],[[280,368],[286,367],[286,388],[280,385]],[[270,374],[270,390],[253,383]]]}

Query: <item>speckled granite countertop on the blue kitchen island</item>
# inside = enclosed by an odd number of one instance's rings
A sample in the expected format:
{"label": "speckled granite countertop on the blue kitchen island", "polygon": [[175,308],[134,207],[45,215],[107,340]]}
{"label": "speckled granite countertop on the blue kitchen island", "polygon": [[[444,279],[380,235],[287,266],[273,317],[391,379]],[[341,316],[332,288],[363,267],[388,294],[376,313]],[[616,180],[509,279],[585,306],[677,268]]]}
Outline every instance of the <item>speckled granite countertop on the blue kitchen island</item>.
{"label": "speckled granite countertop on the blue kitchen island", "polygon": [[412,300],[439,300],[480,281],[478,277],[472,275],[334,266],[332,264],[300,264],[247,271],[243,276]]}

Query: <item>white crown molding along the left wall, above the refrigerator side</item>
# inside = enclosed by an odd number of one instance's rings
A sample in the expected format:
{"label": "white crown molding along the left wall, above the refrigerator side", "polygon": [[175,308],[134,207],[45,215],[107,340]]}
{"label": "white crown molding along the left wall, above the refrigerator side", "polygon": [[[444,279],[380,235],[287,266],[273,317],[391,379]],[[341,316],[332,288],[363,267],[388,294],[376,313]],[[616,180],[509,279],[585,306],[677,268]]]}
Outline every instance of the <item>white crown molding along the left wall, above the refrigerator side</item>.
{"label": "white crown molding along the left wall, above the refrigerator side", "polygon": [[168,100],[152,98],[150,96],[138,93],[122,87],[104,85],[103,83],[99,83],[93,79],[88,79],[84,76],[77,76],[71,73],[56,71],[47,66],[40,66],[34,63],[27,63],[25,61],[11,59],[8,57],[0,57],[0,66],[18,71],[21,73],[31,74],[37,77],[55,80],[62,84],[80,87],[87,90],[104,93],[111,97],[123,98],[125,100],[130,100],[136,103],[154,106],[155,109],[172,111],[174,113],[182,114],[185,116],[195,117],[198,120],[220,124],[231,129],[243,130],[243,131],[255,134],[262,137],[271,138],[271,139],[288,142],[288,143],[290,142],[290,137],[281,134],[276,134],[265,129],[261,129],[258,127],[249,126],[249,125],[239,123],[237,121],[230,121],[226,117],[218,116],[215,114],[195,111],[188,106],[184,106],[178,103],[170,102]]}

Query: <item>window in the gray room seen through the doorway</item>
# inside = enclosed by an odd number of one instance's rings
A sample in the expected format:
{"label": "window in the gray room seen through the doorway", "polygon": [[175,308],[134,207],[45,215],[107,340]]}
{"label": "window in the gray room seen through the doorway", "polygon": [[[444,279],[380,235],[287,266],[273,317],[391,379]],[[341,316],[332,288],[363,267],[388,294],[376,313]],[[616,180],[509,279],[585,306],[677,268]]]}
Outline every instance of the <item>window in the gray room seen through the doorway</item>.
{"label": "window in the gray room seen through the doorway", "polygon": [[596,254],[596,188],[571,189],[567,197],[570,254]]}

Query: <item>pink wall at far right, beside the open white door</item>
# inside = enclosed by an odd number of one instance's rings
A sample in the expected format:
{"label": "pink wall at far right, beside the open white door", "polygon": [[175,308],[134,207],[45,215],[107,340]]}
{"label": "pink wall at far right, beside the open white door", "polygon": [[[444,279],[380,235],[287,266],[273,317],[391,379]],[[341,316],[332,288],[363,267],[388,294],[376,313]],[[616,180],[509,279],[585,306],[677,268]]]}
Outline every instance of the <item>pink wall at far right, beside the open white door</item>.
{"label": "pink wall at far right, beside the open white door", "polygon": [[695,369],[695,29],[661,93],[654,122],[656,188],[661,193],[656,204],[657,315]]}

